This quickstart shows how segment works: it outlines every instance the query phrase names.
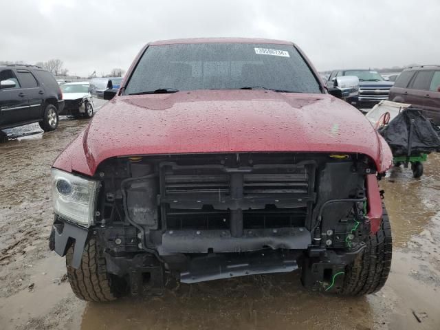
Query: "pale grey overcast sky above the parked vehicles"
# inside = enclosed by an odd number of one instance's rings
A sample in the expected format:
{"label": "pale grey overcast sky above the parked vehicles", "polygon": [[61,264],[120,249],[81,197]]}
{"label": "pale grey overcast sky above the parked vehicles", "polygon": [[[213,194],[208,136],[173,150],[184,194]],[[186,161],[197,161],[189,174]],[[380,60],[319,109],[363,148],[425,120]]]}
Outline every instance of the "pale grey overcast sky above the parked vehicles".
{"label": "pale grey overcast sky above the parked vehicles", "polygon": [[440,64],[439,0],[0,0],[0,61],[127,69],[142,45],[195,36],[297,43],[318,70]]}

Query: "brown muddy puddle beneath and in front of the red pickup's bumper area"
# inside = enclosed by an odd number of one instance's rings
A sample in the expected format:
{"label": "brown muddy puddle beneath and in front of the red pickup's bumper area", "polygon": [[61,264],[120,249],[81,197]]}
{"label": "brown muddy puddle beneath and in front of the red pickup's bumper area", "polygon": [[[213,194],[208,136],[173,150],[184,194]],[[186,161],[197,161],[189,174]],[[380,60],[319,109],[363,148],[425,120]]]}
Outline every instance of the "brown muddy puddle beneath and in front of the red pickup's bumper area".
{"label": "brown muddy puddle beneath and in front of the red pickup's bumper area", "polygon": [[180,285],[161,297],[89,303],[81,329],[372,329],[365,297],[311,293],[299,272]]}

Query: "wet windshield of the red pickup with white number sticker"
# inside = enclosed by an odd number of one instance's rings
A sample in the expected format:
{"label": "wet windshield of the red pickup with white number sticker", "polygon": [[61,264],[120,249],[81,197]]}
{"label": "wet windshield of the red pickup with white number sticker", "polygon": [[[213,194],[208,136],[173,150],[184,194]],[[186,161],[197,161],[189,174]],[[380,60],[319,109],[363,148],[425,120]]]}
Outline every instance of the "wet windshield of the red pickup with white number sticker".
{"label": "wet windshield of the red pickup with white number sticker", "polygon": [[124,94],[243,87],[321,93],[292,45],[192,43],[148,47]]}

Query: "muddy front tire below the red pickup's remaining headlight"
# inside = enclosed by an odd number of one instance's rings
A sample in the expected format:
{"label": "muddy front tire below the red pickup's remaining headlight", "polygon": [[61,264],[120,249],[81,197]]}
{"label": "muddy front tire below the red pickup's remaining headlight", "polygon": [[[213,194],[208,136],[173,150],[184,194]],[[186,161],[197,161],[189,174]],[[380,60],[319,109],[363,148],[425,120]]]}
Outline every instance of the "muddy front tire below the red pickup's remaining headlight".
{"label": "muddy front tire below the red pickup's remaining headlight", "polygon": [[74,294],[83,300],[104,302],[115,300],[118,294],[112,283],[111,275],[107,273],[105,258],[98,242],[93,237],[87,242],[77,269],[72,267],[74,245],[66,254],[67,277]]}

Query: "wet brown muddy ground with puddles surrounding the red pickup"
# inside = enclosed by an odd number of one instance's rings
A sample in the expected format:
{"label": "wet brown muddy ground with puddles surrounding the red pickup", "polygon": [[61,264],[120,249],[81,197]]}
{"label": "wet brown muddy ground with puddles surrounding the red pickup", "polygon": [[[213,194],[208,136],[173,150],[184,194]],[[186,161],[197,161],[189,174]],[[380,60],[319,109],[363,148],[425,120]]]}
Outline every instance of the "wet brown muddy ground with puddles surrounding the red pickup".
{"label": "wet brown muddy ground with puddles surrounding the red pickup", "polygon": [[63,118],[44,134],[24,126],[0,144],[0,329],[440,329],[439,154],[421,179],[393,168],[381,182],[394,251],[377,294],[311,293],[294,272],[179,285],[115,303],[78,300],[65,260],[47,247],[50,166],[87,122]]}

